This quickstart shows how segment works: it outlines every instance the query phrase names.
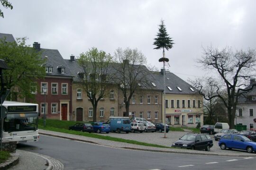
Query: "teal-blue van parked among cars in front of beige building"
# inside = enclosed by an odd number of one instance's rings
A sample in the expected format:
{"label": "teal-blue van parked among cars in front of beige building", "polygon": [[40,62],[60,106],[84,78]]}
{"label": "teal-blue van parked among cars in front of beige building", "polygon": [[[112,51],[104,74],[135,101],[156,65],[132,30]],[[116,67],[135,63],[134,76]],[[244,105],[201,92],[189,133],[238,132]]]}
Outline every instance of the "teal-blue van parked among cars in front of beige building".
{"label": "teal-blue van parked among cars in front of beige building", "polygon": [[129,117],[110,117],[107,121],[110,124],[110,131],[113,132],[126,132],[129,133],[131,130],[131,121]]}

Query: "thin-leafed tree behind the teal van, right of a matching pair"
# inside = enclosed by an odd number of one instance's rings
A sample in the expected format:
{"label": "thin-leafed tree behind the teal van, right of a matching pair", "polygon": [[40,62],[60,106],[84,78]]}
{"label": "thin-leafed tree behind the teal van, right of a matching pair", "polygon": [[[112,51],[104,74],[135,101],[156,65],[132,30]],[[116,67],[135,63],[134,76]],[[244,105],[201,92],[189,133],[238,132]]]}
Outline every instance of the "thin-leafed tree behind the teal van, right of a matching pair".
{"label": "thin-leafed tree behind the teal van, right of a matching pair", "polygon": [[148,87],[150,71],[146,68],[146,57],[137,49],[121,48],[115,51],[117,66],[115,69],[115,82],[124,95],[126,115],[129,114],[130,99],[136,89]]}

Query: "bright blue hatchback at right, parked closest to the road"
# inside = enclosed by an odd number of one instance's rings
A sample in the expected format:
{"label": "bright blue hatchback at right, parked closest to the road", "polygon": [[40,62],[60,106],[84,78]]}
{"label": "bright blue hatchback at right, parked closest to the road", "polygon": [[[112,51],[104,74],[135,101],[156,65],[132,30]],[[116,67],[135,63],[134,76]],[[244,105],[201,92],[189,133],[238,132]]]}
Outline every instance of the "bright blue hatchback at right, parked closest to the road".
{"label": "bright blue hatchback at right, parked closest to the road", "polygon": [[252,142],[249,138],[243,135],[224,135],[219,140],[220,149],[241,149],[248,153],[256,152],[256,142]]}

